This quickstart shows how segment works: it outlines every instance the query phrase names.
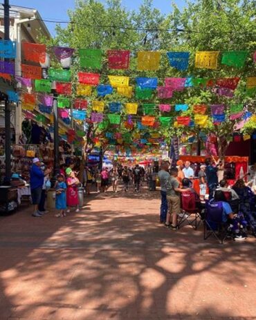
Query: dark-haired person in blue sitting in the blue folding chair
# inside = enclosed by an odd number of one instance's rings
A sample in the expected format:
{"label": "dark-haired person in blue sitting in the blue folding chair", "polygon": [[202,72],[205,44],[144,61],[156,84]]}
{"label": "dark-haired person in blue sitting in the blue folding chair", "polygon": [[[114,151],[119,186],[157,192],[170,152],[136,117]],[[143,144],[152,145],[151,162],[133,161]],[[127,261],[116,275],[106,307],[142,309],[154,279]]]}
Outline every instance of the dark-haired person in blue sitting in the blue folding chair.
{"label": "dark-haired person in blue sitting in the blue folding chair", "polygon": [[214,198],[211,200],[212,203],[221,203],[223,208],[222,222],[230,224],[230,230],[232,231],[232,236],[235,240],[244,240],[246,234],[241,232],[240,229],[243,227],[244,218],[243,216],[238,216],[234,214],[226,197],[221,190],[216,190],[214,193]]}

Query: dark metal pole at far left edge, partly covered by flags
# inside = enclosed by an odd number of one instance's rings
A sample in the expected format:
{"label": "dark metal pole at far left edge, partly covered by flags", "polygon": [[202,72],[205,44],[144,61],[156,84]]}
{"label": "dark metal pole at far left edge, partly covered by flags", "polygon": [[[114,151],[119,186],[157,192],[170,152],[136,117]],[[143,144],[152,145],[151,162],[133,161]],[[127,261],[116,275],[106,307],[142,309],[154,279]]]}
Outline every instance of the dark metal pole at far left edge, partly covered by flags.
{"label": "dark metal pole at far left edge, partly covered by flags", "polygon": [[[4,0],[3,3],[3,12],[4,12],[4,39],[10,40],[10,5],[9,0]],[[10,104],[8,97],[5,100],[5,153],[6,153],[6,184],[10,183]]]}

